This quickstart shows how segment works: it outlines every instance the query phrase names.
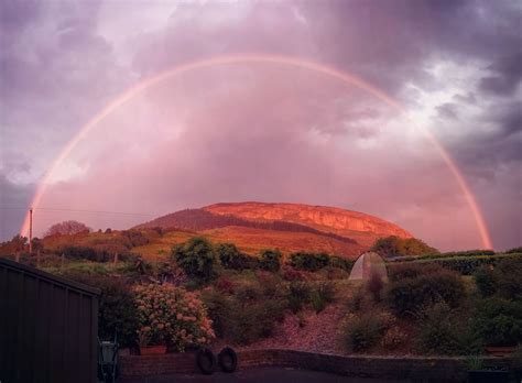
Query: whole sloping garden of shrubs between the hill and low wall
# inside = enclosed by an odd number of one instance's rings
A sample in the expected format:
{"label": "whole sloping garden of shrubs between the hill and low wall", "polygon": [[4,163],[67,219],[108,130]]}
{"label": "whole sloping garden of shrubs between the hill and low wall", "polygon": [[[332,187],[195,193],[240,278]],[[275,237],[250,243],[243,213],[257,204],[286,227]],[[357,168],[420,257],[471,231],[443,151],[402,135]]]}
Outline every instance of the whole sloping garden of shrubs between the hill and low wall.
{"label": "whole sloping garden of shrubs between the hill and low wall", "polygon": [[[115,243],[131,249],[132,242],[145,241],[131,233]],[[342,256],[273,249],[254,256],[200,237],[174,245],[155,262],[131,251],[118,259],[104,254],[65,247],[61,255],[43,252],[37,262],[99,287],[99,336],[111,339],[118,332],[132,353],[231,344],[339,354],[480,355],[494,347],[513,351],[522,342],[522,254],[516,249],[417,256],[392,251],[385,258],[388,280],[376,274],[366,282],[348,280],[354,261]],[[36,262],[29,255],[21,261]],[[314,337],[323,337],[322,342]]]}

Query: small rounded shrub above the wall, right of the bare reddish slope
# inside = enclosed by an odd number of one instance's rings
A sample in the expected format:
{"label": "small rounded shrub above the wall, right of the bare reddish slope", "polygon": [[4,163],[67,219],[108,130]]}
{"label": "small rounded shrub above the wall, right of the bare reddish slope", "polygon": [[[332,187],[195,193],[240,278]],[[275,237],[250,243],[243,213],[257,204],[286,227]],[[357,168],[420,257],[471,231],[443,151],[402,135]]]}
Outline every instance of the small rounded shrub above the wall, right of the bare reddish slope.
{"label": "small rounded shrub above the wall, right of the bare reddish slope", "polygon": [[348,314],[342,325],[342,341],[349,352],[365,351],[378,344],[392,324],[388,313]]}

